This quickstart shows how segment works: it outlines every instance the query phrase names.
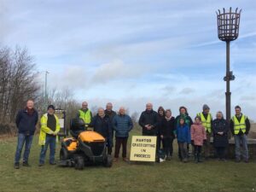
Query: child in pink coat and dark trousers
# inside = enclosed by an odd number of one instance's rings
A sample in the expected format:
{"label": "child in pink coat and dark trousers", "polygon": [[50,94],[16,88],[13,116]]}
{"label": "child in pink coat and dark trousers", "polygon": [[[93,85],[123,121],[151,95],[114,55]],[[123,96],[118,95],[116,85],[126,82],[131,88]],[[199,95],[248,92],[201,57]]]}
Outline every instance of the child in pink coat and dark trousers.
{"label": "child in pink coat and dark trousers", "polygon": [[194,146],[195,163],[201,161],[201,146],[207,141],[205,127],[201,125],[201,117],[195,117],[195,122],[191,125],[191,144]]}

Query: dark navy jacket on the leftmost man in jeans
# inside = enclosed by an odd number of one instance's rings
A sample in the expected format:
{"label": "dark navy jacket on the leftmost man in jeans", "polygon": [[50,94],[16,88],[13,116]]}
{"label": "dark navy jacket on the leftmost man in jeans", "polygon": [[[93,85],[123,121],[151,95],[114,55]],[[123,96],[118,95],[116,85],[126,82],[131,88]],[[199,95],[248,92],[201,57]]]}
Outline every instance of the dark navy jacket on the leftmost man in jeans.
{"label": "dark navy jacket on the leftmost man in jeans", "polygon": [[19,133],[33,135],[38,123],[38,112],[34,110],[32,115],[29,115],[26,109],[21,109],[17,113],[15,122]]}

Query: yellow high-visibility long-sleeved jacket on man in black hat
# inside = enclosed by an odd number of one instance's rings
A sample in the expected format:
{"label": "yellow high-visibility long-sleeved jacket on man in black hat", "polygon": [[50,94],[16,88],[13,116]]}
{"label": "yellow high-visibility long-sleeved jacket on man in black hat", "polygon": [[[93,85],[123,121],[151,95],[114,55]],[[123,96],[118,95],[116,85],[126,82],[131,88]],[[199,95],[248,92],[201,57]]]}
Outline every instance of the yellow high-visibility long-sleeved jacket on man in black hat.
{"label": "yellow high-visibility long-sleeved jacket on man in black hat", "polygon": [[[56,119],[56,129],[55,131],[52,131],[51,129],[49,129],[49,127],[47,127],[47,120],[48,120],[48,116],[47,113],[45,113],[42,118],[41,118],[41,129],[40,129],[40,134],[39,134],[39,145],[44,145],[45,144],[45,139],[46,139],[46,134],[55,134],[57,135],[57,133],[61,130],[61,125],[60,125],[60,121],[59,118],[55,115],[55,119]],[[56,137],[56,142],[58,142],[59,138]]]}

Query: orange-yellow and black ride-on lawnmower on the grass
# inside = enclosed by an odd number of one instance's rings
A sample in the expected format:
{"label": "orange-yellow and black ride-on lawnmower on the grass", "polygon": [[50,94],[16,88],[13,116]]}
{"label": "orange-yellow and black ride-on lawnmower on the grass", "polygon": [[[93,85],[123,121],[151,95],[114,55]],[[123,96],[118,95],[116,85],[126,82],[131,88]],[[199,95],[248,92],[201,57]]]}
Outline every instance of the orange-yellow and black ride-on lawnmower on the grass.
{"label": "orange-yellow and black ride-on lawnmower on the grass", "polygon": [[60,166],[74,166],[79,170],[91,164],[111,167],[113,159],[107,154],[106,139],[84,127],[83,119],[71,120],[70,133],[73,138],[64,138],[61,142]]}

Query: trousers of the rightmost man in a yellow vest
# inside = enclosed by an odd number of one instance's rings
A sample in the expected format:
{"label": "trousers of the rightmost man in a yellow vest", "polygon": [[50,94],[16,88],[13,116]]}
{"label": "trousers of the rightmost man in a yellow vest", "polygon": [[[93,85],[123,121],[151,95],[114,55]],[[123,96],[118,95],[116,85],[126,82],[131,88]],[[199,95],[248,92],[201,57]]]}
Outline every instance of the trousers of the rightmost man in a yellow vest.
{"label": "trousers of the rightmost man in a yellow vest", "polygon": [[[235,135],[236,144],[236,160],[240,160],[241,154],[244,160],[249,159],[248,147],[247,147],[247,135]],[[242,147],[242,150],[241,150]]]}

